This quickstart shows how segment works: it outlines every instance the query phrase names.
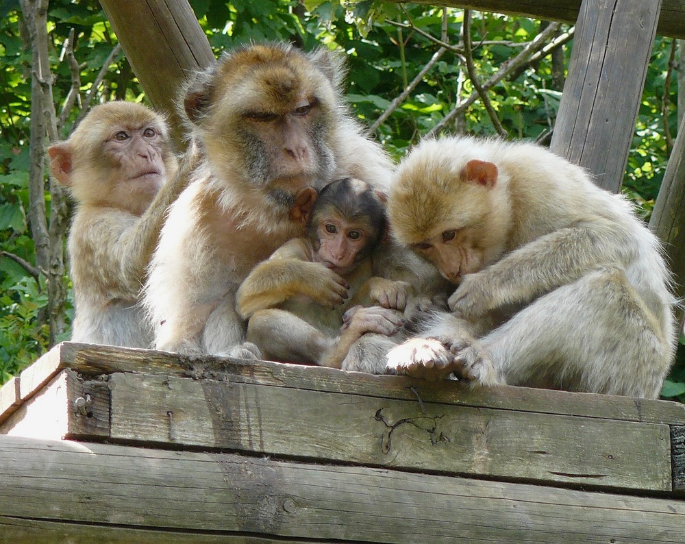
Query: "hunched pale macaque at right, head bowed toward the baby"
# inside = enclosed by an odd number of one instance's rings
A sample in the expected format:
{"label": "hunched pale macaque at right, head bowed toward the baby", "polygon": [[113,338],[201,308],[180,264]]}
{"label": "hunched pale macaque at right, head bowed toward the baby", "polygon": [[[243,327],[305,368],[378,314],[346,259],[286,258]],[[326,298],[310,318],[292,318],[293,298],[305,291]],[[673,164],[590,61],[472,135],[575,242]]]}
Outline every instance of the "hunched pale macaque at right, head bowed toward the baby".
{"label": "hunched pale macaque at right, head bowed toward the baby", "polygon": [[458,286],[388,371],[658,397],[675,349],[660,243],[578,166],[530,143],[425,140],[388,219]]}

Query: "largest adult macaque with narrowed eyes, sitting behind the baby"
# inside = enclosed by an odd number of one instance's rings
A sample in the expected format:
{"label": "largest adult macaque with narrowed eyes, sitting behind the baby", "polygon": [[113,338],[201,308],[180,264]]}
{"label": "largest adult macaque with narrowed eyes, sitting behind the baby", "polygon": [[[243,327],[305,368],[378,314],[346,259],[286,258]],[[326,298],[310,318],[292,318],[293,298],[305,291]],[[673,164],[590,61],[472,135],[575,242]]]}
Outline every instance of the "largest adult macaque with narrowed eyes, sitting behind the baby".
{"label": "largest adult macaque with narrowed eyes, sitting behind the baby", "polygon": [[356,177],[385,190],[393,163],[343,103],[342,59],[282,43],[225,53],[188,84],[184,114],[204,153],[169,213],[146,286],[155,347],[259,358],[236,290],[303,236],[316,193]]}

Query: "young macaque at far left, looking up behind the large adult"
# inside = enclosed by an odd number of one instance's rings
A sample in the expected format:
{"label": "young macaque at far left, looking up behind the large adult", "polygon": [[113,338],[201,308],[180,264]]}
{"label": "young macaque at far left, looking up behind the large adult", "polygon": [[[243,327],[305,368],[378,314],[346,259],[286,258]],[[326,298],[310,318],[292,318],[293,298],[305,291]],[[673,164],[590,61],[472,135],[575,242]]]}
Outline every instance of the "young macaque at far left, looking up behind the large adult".
{"label": "young macaque at far left, looking up behind the large adult", "polygon": [[150,347],[140,290],[166,209],[185,186],[174,177],[166,122],[138,103],[101,104],[48,153],[52,175],[78,203],[69,233],[71,339]]}

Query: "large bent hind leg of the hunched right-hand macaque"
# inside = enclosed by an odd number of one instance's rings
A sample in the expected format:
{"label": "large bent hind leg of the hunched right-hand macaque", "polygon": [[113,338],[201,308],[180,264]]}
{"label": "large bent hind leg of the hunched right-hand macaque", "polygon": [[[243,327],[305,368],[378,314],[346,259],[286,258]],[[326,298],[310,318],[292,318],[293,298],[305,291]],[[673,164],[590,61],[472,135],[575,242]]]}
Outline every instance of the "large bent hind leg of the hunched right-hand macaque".
{"label": "large bent hind leg of the hunched right-hand macaque", "polygon": [[669,340],[623,272],[602,269],[540,297],[460,351],[457,363],[482,384],[656,398]]}

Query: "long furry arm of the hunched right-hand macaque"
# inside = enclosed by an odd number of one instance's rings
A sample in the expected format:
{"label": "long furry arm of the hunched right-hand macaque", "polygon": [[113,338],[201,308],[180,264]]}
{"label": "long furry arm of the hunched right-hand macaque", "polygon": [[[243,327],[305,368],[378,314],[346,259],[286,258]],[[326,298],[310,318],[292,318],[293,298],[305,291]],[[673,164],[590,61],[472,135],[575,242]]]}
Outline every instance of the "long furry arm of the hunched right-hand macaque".
{"label": "long furry arm of the hunched right-hand macaque", "polygon": [[[621,238],[625,238],[621,243]],[[602,266],[628,262],[634,243],[609,221],[540,236],[477,273],[464,276],[449,308],[464,319],[528,304]]]}

